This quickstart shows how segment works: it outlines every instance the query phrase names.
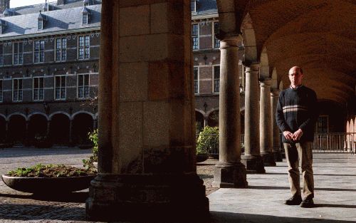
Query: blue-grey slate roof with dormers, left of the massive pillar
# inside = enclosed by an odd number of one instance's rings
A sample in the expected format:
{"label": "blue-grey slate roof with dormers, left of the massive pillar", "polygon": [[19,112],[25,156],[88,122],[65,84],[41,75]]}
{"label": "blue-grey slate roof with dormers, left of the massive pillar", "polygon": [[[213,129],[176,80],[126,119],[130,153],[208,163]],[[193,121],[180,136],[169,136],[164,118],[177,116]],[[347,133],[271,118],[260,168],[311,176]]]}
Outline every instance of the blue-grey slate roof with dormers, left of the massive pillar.
{"label": "blue-grey slate roof with dormers, left of the massive pillar", "polygon": [[1,20],[6,21],[7,25],[4,29],[4,34],[0,35],[0,40],[10,36],[16,37],[78,28],[100,27],[101,4],[86,6],[86,8],[90,11],[89,24],[82,24],[83,6],[72,9],[43,11],[41,14],[46,16],[47,21],[42,30],[37,28],[39,12],[36,14],[2,17]]}

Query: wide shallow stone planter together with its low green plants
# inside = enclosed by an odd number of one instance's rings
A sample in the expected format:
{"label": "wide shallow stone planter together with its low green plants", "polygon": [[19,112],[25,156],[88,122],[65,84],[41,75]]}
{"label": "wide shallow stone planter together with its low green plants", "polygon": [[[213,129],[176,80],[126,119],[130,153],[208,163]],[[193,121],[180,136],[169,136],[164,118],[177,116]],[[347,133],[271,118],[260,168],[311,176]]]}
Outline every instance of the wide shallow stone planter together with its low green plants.
{"label": "wide shallow stone planter together with its low green plants", "polygon": [[88,188],[96,171],[66,165],[20,167],[2,175],[4,183],[14,190],[36,195],[58,195]]}

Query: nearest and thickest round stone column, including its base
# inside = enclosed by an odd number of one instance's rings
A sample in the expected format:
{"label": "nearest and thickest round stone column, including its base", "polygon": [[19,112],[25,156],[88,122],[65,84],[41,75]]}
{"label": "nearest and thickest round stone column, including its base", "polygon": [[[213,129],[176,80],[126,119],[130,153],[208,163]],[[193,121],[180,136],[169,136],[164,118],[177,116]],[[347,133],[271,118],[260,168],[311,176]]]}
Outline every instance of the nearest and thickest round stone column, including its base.
{"label": "nearest and thickest round stone column, including its base", "polygon": [[219,162],[213,187],[247,187],[241,163],[239,36],[220,41]]}

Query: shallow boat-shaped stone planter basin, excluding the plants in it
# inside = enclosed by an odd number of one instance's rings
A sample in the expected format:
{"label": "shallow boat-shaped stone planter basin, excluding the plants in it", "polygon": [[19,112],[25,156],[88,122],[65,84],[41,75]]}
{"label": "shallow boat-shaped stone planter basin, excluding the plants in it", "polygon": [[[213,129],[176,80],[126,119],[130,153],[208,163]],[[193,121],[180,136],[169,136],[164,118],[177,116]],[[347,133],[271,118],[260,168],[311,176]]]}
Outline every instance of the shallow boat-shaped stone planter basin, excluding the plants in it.
{"label": "shallow boat-shaped stone planter basin, excluding the plants in it", "polygon": [[14,190],[33,194],[58,194],[84,190],[96,175],[80,177],[9,177],[2,175],[4,183]]}

